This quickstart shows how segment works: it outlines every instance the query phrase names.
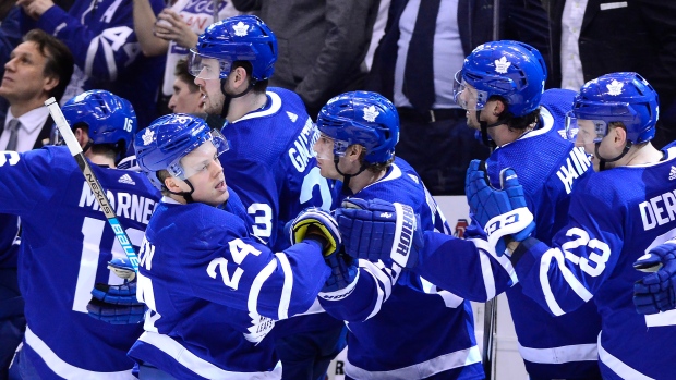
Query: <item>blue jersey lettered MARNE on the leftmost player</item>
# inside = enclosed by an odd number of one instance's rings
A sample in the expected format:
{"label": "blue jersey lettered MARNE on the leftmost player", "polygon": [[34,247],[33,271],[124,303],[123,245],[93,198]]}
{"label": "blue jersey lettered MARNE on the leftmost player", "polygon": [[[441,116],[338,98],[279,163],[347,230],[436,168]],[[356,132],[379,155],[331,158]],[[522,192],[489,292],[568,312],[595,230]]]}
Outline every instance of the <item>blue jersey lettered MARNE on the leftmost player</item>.
{"label": "blue jersey lettered MARNE on the leftmost player", "polygon": [[[159,193],[145,175],[92,166],[132,244],[141,245]],[[122,282],[106,268],[125,257],[67,147],[0,152],[0,212],[21,217],[19,281],[27,321],[26,357],[43,379],[133,379],[128,350],[141,324],[87,315],[97,282]]]}

